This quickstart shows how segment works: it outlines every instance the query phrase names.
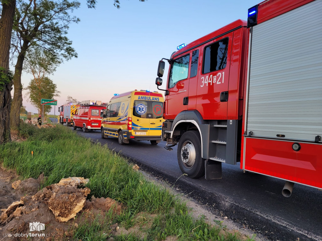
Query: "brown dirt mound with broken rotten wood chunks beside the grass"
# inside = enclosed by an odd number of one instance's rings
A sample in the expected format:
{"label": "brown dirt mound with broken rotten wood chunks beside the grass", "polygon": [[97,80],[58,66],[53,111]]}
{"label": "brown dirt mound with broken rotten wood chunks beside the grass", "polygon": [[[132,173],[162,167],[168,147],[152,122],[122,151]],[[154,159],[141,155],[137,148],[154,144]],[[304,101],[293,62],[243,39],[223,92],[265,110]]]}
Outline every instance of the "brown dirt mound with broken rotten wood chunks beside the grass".
{"label": "brown dirt mound with broken rotten wood chunks beside the grass", "polygon": [[[24,184],[39,182],[41,178],[28,180],[14,182],[12,186],[19,190]],[[50,240],[52,237],[55,240],[62,240],[62,237],[72,236],[72,230],[77,227],[78,222],[81,222],[83,214],[85,217],[94,218],[99,214],[105,217],[105,212],[111,208],[114,213],[121,212],[122,206],[115,200],[94,197],[91,201],[87,200],[90,189],[84,186],[86,183],[88,179],[65,178],[59,183],[43,188],[33,196],[25,195],[20,201],[13,202],[8,208],[3,209],[0,215],[0,237],[8,233],[29,232],[46,234],[45,237],[50,237]],[[76,217],[77,214],[80,215]],[[30,225],[34,222],[38,226],[44,225],[45,230],[30,229]],[[15,237],[8,237],[6,240],[15,240]],[[19,240],[27,240],[27,237],[20,237]]]}

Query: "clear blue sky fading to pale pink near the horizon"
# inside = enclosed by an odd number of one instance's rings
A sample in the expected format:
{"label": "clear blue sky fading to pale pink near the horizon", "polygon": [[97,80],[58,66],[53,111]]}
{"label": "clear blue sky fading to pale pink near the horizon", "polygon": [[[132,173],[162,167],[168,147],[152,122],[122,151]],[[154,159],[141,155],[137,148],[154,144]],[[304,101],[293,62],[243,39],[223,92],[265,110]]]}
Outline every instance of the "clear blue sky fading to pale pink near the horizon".
{"label": "clear blue sky fading to pale pink near the horizon", "polygon": [[[188,44],[237,19],[247,20],[248,8],[261,1],[121,0],[120,9],[113,6],[113,0],[98,0],[96,9],[88,9],[85,0],[80,2],[81,7],[73,14],[81,22],[72,24],[68,33],[78,58],[63,63],[50,76],[61,91],[57,107],[68,95],[78,101],[108,102],[114,93],[157,90],[155,79],[161,58],[170,58],[182,43]],[[168,67],[166,64],[161,87],[166,86]],[[27,86],[31,78],[23,73],[23,85]],[[37,112],[27,98],[23,104],[27,111]]]}

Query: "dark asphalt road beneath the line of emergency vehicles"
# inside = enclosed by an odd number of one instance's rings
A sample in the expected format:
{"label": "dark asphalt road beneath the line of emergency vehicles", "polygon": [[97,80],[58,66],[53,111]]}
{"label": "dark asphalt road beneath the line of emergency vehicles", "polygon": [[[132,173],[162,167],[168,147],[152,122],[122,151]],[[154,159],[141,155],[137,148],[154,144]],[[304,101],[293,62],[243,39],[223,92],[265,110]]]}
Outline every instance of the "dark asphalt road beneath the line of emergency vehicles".
{"label": "dark asphalt road beneath the line of emergency vehicles", "polygon": [[107,144],[143,170],[175,183],[176,188],[190,193],[189,196],[214,214],[227,216],[271,240],[322,240],[322,192],[317,189],[295,184],[291,197],[285,198],[281,194],[284,181],[243,173],[239,165],[228,164],[223,164],[222,179],[191,179],[181,176],[176,146],[173,151],[167,151],[165,142],[152,146],[149,141],[134,140],[121,146],[117,138],[101,139],[98,130],[76,132],[94,142]]}

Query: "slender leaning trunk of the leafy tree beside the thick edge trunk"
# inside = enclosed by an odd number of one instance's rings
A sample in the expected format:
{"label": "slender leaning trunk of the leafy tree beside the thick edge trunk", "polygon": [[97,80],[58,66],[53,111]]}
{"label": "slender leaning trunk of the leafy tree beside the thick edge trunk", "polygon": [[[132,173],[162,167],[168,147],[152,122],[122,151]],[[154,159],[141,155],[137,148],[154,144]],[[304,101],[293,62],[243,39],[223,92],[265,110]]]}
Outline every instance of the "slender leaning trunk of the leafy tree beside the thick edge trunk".
{"label": "slender leaning trunk of the leafy tree beside the thick edge trunk", "polygon": [[25,57],[25,49],[28,45],[28,42],[24,42],[22,50],[17,58],[17,64],[14,69],[14,98],[11,104],[11,111],[10,111],[10,122],[11,122],[11,129],[18,129],[20,124],[20,108],[22,106],[22,84],[21,84],[21,74],[22,68],[24,64],[24,57]]}

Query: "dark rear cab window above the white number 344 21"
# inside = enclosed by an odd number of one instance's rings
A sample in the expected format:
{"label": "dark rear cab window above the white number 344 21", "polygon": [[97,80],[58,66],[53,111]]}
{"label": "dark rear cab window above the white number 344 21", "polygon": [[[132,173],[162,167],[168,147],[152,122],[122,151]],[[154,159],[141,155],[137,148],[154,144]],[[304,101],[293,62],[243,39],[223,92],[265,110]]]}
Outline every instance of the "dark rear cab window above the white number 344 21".
{"label": "dark rear cab window above the white number 344 21", "polygon": [[204,48],[203,74],[226,67],[228,38],[214,42]]}

